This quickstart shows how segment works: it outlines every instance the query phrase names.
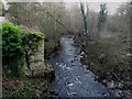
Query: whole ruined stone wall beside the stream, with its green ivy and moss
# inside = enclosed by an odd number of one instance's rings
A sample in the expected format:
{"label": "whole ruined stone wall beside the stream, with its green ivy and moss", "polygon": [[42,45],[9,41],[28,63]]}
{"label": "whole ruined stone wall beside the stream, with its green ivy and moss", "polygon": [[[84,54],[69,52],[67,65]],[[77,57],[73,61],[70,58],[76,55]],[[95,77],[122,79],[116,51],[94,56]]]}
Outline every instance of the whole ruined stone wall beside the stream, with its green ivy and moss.
{"label": "whole ruined stone wall beside the stream, with its green ivy and moss", "polygon": [[44,61],[44,33],[11,22],[0,25],[4,77],[54,76],[54,70]]}

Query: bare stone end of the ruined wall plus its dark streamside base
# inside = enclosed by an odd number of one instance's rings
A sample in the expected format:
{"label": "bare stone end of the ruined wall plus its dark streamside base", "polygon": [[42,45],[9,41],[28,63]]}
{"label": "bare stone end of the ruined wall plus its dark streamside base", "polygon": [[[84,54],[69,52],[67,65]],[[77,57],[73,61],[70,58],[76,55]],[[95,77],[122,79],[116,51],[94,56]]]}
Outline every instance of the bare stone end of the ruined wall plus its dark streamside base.
{"label": "bare stone end of the ruined wall plus its dark streamside base", "polygon": [[[25,59],[24,59],[25,61]],[[30,77],[44,77],[52,81],[55,78],[55,72],[52,66],[46,65],[44,62],[44,40],[40,42],[37,52],[30,56],[30,69],[28,69],[26,62],[24,67],[26,70],[25,75]]]}

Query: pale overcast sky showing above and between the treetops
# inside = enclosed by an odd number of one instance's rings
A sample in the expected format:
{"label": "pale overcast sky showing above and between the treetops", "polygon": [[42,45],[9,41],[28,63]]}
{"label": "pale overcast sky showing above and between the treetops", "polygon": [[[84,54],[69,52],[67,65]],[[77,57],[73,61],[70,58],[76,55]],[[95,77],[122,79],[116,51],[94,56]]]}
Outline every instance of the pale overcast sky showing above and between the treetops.
{"label": "pale overcast sky showing above and between the treetops", "polygon": [[[4,1],[4,0],[2,0]],[[89,9],[95,10],[96,12],[99,11],[99,4],[102,2],[107,2],[107,9],[110,14],[114,13],[117,8],[122,3],[122,2],[128,2],[130,0],[6,0],[6,1],[11,1],[11,2],[35,2],[35,1],[41,1],[41,2],[88,2],[89,3]],[[68,8],[72,7],[72,3],[66,4]]]}

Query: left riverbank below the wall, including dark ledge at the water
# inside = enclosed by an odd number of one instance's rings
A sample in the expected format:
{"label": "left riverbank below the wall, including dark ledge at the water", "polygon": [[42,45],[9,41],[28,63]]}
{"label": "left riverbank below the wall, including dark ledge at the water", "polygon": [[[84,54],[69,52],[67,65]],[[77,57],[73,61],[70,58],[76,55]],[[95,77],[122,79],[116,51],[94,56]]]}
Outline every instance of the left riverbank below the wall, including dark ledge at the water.
{"label": "left riverbank below the wall, including dark ledge at the water", "polygon": [[[42,74],[31,77],[2,78],[2,97],[43,97],[46,96],[48,86],[55,79],[52,68],[45,69]],[[46,96],[48,97],[48,96]]]}

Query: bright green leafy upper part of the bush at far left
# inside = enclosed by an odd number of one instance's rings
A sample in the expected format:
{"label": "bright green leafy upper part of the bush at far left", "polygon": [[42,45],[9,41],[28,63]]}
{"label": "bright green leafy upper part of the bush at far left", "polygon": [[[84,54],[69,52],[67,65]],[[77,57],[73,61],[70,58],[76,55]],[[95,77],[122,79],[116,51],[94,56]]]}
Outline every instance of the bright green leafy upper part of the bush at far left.
{"label": "bright green leafy upper part of the bush at far left", "polygon": [[24,48],[22,46],[22,34],[19,26],[14,26],[11,22],[2,23],[2,55],[3,57],[13,57],[22,55]]}

